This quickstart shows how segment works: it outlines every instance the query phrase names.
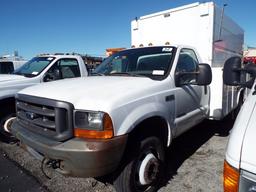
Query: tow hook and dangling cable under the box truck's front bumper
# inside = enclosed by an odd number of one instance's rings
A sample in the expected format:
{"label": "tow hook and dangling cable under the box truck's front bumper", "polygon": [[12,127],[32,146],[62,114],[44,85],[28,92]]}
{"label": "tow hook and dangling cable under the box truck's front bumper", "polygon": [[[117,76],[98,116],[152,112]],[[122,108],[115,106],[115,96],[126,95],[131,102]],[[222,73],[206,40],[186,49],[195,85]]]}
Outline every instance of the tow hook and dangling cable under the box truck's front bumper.
{"label": "tow hook and dangling cable under the box truck's front bumper", "polygon": [[41,163],[41,171],[47,179],[51,179],[50,169],[59,169],[60,160],[44,158]]}

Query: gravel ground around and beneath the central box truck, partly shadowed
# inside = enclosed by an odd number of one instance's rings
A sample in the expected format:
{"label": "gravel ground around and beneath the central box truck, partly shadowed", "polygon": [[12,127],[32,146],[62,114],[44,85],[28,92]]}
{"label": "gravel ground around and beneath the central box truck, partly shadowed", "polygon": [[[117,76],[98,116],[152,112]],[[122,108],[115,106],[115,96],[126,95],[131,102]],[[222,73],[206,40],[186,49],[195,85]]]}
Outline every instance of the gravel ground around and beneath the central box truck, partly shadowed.
{"label": "gravel ground around and beneath the central box truck, partly shadowed", "polygon": [[[167,150],[167,174],[159,191],[222,191],[224,153],[232,125],[230,117],[222,121],[204,121],[177,138]],[[68,178],[51,172],[52,179],[47,179],[41,172],[40,162],[18,145],[0,142],[0,150],[24,168],[25,173],[34,176],[46,191],[115,191],[110,184],[93,178]]]}

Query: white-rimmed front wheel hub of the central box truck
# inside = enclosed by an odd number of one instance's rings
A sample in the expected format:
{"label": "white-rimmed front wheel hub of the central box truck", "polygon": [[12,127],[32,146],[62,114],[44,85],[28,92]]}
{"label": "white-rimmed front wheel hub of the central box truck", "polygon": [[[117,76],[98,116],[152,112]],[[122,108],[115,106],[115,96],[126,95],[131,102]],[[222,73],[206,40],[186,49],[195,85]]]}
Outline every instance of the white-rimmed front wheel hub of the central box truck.
{"label": "white-rimmed front wheel hub of the central box truck", "polygon": [[151,184],[157,179],[159,172],[159,160],[154,154],[149,153],[143,159],[139,167],[139,181],[141,185]]}

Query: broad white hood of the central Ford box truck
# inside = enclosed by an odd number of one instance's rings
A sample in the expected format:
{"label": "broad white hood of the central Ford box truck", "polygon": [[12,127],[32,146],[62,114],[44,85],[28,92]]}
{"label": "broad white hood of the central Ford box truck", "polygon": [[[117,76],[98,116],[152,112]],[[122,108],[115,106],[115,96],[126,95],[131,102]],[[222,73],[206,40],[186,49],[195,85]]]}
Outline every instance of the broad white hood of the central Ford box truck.
{"label": "broad white hood of the central Ford box truck", "polygon": [[144,77],[93,76],[44,83],[19,93],[66,101],[76,109],[108,112],[139,99],[145,93],[150,94],[151,87],[159,82]]}

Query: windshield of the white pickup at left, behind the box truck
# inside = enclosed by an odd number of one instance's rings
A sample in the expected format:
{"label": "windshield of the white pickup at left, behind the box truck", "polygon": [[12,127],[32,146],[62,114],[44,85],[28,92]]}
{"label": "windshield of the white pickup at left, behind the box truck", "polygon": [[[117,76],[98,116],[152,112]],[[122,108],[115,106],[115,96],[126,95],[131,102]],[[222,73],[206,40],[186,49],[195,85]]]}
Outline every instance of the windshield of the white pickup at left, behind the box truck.
{"label": "windshield of the white pickup at left, behind the box truck", "polygon": [[40,74],[53,60],[54,57],[34,57],[15,70],[13,74],[24,75],[25,77],[35,77]]}

